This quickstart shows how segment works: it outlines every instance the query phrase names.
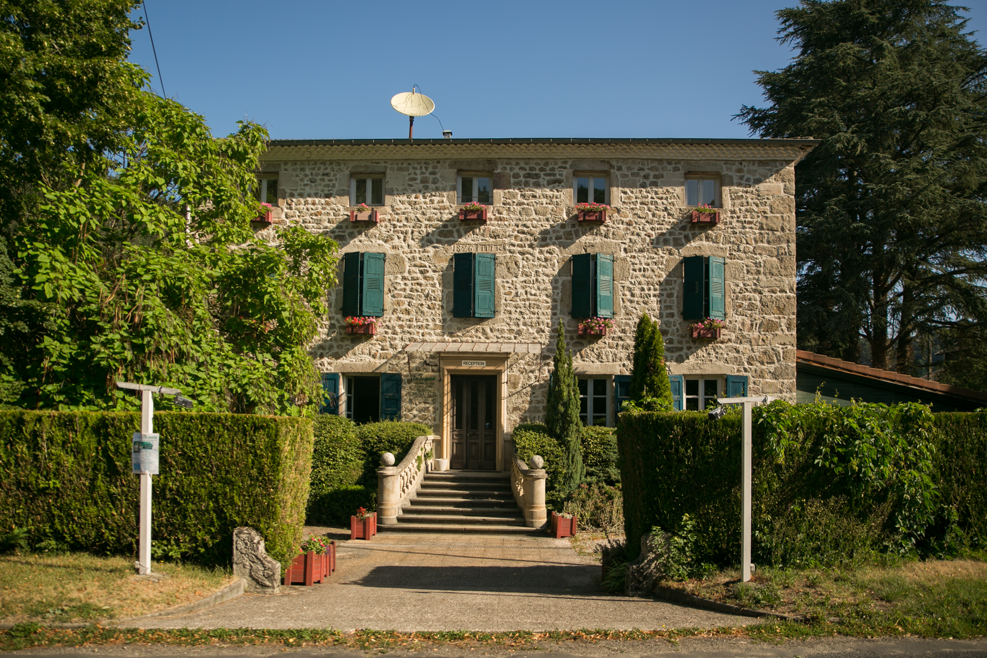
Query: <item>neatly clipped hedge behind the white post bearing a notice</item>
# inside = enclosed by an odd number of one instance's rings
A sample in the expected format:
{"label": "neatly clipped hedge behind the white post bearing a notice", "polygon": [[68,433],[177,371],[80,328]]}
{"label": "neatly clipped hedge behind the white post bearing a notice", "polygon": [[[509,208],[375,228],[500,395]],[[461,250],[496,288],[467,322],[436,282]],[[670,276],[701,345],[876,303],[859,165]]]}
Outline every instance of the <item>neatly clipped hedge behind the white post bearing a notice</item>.
{"label": "neatly clipped hedge behind the white post bearing a notice", "polygon": [[[233,530],[257,529],[282,566],[298,550],[309,494],[312,421],[158,412],[156,552],[229,563]],[[139,478],[130,438],[140,415],[0,412],[0,535],[34,545],[136,553]]]}

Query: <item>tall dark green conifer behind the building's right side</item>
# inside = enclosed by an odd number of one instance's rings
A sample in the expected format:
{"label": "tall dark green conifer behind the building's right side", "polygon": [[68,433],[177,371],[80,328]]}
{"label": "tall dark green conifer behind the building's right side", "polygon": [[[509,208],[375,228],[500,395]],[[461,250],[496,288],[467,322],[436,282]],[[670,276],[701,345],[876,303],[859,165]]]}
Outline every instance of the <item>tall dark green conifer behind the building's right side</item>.
{"label": "tall dark green conifer behind the building's right side", "polygon": [[797,165],[798,342],[914,368],[920,335],[987,319],[987,56],[940,0],[802,0],[797,48],[758,71],[764,137],[822,139]]}

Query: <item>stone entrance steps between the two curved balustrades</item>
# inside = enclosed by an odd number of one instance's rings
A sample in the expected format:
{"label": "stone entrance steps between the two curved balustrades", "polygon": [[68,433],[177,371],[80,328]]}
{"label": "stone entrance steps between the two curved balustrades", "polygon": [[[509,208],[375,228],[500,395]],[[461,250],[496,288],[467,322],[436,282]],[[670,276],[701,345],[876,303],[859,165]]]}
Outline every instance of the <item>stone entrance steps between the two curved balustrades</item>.
{"label": "stone entrance steps between the two curved balustrades", "polygon": [[483,470],[425,473],[418,496],[402,508],[396,526],[378,525],[382,534],[456,533],[544,535],[524,525],[510,491],[510,474]]}

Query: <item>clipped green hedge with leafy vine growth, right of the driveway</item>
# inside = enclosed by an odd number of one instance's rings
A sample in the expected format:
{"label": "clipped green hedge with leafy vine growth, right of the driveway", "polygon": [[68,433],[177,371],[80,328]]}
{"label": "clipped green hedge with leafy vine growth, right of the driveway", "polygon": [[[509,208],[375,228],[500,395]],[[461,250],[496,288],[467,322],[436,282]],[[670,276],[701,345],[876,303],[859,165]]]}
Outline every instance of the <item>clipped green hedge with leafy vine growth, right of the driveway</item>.
{"label": "clipped green hedge with leafy vine growth, right of the driveway", "polygon": [[[886,550],[984,545],[987,414],[915,404],[755,408],[756,561],[833,564]],[[623,413],[617,432],[628,553],[652,527],[695,521],[695,559],[735,564],[740,414]]]}

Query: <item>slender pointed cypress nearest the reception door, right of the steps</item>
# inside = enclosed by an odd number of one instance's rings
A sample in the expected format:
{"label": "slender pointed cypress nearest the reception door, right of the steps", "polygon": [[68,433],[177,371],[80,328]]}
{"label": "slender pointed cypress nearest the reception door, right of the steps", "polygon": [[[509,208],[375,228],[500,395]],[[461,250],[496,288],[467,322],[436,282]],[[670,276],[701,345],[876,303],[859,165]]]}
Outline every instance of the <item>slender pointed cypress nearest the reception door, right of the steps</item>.
{"label": "slender pointed cypress nearest the reception door, right of the steps", "polygon": [[559,321],[556,354],[552,359],[552,382],[549,385],[545,424],[563,447],[562,493],[572,491],[585,477],[582,449],[579,446],[579,386],[572,371],[572,353],[566,347],[566,331]]}

